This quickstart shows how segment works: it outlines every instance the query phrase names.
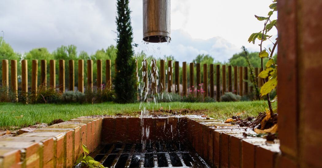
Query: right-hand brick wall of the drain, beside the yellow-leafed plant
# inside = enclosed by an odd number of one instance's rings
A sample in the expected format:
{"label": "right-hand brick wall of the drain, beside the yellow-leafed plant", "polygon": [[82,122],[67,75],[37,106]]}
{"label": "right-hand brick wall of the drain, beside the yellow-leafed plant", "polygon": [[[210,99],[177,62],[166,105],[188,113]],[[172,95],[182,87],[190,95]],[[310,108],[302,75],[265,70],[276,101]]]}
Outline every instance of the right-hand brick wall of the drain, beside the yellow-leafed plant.
{"label": "right-hand brick wall of the drain, beside the yellow-leafed plant", "polygon": [[277,167],[279,142],[244,137],[245,128],[204,117],[188,116],[187,125],[189,141],[211,167]]}

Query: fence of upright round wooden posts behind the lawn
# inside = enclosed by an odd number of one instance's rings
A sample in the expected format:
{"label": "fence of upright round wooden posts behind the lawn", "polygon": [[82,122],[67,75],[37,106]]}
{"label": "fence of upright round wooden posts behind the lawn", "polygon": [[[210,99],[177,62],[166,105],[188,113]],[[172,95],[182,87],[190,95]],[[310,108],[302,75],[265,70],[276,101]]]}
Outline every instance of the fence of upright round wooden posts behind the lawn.
{"label": "fence of upright round wooden posts behind the lawn", "polygon": [[[146,61],[146,60],[145,60]],[[11,68],[11,85],[9,87],[9,61],[2,60],[2,86],[11,88],[12,92],[17,95],[18,92],[18,80],[17,80],[17,61],[10,61]],[[58,90],[63,93],[65,92],[65,60],[59,60],[59,84],[57,86]],[[49,62],[49,88],[56,88],[56,72],[55,72],[56,60],[50,60]],[[75,75],[74,75],[74,60],[69,60],[69,83],[68,90],[74,91],[75,86]],[[103,79],[102,79],[102,68],[103,61],[97,60],[97,89],[102,89]],[[93,89],[93,61],[87,60],[87,88]],[[179,74],[179,62],[175,62],[175,77],[173,75],[172,60],[168,60],[167,75],[165,69],[166,62],[165,60],[160,60],[160,71],[159,71],[159,84],[156,84],[157,80],[152,81],[150,84],[151,93],[164,92],[167,88],[167,92],[175,92],[182,96],[195,95],[203,97],[212,97],[216,98],[217,101],[220,100],[220,96],[225,92],[233,92],[234,94],[239,94],[240,96],[247,95],[252,87],[249,89],[249,71],[248,67],[237,67],[231,65],[214,65],[214,64],[203,64],[203,79],[201,79],[201,64],[190,63],[189,70],[190,74],[187,74],[187,63],[182,63],[182,83],[180,83],[180,74]],[[143,63],[142,71],[146,73],[143,76],[143,82],[145,83],[145,88],[148,87],[148,69],[151,68],[151,73],[156,79],[156,61],[153,60],[151,67],[148,67],[147,63]],[[27,94],[28,92],[28,69],[27,69],[27,60],[21,61],[22,73],[21,73],[21,92],[22,94]],[[46,60],[40,61],[41,68],[41,82],[38,85],[38,60],[32,60],[32,79],[31,79],[31,91],[37,93],[38,87],[47,88],[47,62]],[[106,87],[111,89],[112,87],[112,77],[111,77],[111,60],[105,61],[106,68]],[[196,81],[194,81],[194,68],[196,69]],[[228,70],[228,73],[226,73]],[[259,69],[255,68],[254,73],[256,76],[259,74]],[[214,75],[216,74],[216,78]],[[209,79],[208,79],[209,76]],[[189,85],[187,83],[189,77]],[[166,79],[167,78],[167,79]],[[84,60],[78,60],[78,91],[84,92]],[[227,81],[228,79],[228,81]],[[167,80],[167,82],[166,82]],[[175,80],[175,87],[173,87],[173,80]],[[262,86],[262,80],[257,79],[258,86]],[[166,85],[167,84],[167,85]],[[228,85],[227,85],[228,84]],[[180,90],[180,86],[182,89]],[[174,89],[173,89],[174,88]],[[216,89],[215,89],[216,88]],[[200,90],[203,90],[201,92]],[[181,91],[181,92],[180,92]],[[216,96],[215,96],[216,95]]]}

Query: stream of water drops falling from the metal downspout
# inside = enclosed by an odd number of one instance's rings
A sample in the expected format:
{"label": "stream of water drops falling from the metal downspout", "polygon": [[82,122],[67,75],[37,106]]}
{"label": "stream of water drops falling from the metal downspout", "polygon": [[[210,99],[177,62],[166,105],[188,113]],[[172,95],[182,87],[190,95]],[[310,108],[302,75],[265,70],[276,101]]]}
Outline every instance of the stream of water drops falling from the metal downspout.
{"label": "stream of water drops falling from the metal downspout", "polygon": [[[160,39],[161,41],[161,39]],[[168,45],[169,45],[170,40],[168,40]],[[141,143],[143,145],[143,149],[146,148],[146,144],[147,142],[150,144],[151,140],[149,139],[149,135],[150,135],[150,126],[145,126],[144,124],[144,118],[148,118],[151,117],[150,115],[150,111],[149,109],[152,108],[152,113],[154,113],[154,110],[156,109],[161,109],[162,105],[161,103],[158,102],[158,99],[168,99],[169,101],[172,100],[172,96],[171,94],[168,94],[168,92],[166,92],[166,95],[164,95],[164,92],[162,92],[161,94],[159,94],[157,92],[158,88],[164,88],[163,90],[166,90],[166,86],[162,86],[162,82],[159,85],[159,69],[156,65],[156,60],[159,59],[161,57],[161,42],[159,43],[154,43],[157,45],[155,50],[153,47],[149,48],[149,43],[147,42],[143,42],[143,46],[145,46],[144,51],[145,53],[148,53],[149,49],[152,49],[153,55],[152,57],[147,57],[147,55],[143,55],[143,62],[141,63],[141,67],[140,69],[137,69],[137,80],[139,82],[138,84],[138,92],[139,92],[139,97],[140,97],[140,106],[139,106],[139,110],[141,111],[140,114],[140,118],[141,118],[141,127],[142,127],[142,138],[141,138]],[[138,57],[140,55],[137,54],[136,55],[136,61],[138,61]],[[158,57],[157,57],[158,56]],[[172,58],[171,58],[172,59]],[[164,60],[165,63],[168,63],[167,58],[164,56]],[[139,63],[138,63],[139,64]],[[153,66],[154,64],[154,66]],[[145,68],[143,67],[147,67],[147,71],[144,71]],[[166,65],[165,65],[166,67]],[[152,69],[153,68],[153,69]],[[172,74],[173,73],[173,69],[172,69],[172,73],[168,73],[170,72],[170,68],[165,68],[165,74]],[[142,74],[142,78],[139,77],[139,73]],[[169,76],[169,78],[171,79],[172,76]],[[145,82],[145,79],[146,82]],[[146,84],[147,83],[147,84]],[[146,86],[147,85],[147,86]],[[171,91],[172,91],[172,85],[171,87]],[[177,86],[176,86],[177,87]],[[151,107],[152,106],[152,107]],[[171,110],[171,106],[169,105],[169,111]],[[166,124],[169,123],[169,118],[167,119],[168,122],[164,123],[164,131],[166,131]],[[179,121],[179,118],[178,118]],[[170,131],[171,131],[171,135],[172,135],[172,139],[174,136],[173,133],[173,128],[172,125],[170,126]],[[179,130],[178,130],[178,134],[179,134]]]}

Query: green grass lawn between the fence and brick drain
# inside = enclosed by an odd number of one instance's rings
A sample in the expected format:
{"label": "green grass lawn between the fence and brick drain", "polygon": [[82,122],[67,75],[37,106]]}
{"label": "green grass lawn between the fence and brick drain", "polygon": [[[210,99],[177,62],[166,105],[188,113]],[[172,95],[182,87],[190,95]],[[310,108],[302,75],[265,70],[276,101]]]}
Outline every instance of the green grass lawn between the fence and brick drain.
{"label": "green grass lawn between the fence and brick drain", "polygon": [[[275,104],[274,104],[275,105]],[[273,106],[274,106],[273,105]],[[54,119],[70,120],[86,115],[115,115],[118,113],[137,116],[140,103],[133,104],[34,104],[24,105],[17,103],[0,103],[0,129],[13,130],[13,126],[23,128],[35,123],[50,123]],[[244,116],[256,116],[265,111],[266,101],[252,102],[215,102],[215,103],[161,103],[164,110],[190,109],[202,110],[205,114],[216,119],[225,119],[236,113]],[[150,103],[148,109],[160,109],[160,104],[153,107]],[[14,128],[14,129],[18,129]]]}

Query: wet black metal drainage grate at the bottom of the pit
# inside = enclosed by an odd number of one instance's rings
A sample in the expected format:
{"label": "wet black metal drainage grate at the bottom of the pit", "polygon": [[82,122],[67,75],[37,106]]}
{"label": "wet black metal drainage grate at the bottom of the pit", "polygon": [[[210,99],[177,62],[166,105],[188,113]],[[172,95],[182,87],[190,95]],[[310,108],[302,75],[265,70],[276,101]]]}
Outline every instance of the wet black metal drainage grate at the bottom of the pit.
{"label": "wet black metal drainage grate at the bottom of the pit", "polygon": [[94,159],[105,167],[193,167],[209,166],[191,147],[181,142],[148,142],[142,144],[107,144],[97,150]]}

